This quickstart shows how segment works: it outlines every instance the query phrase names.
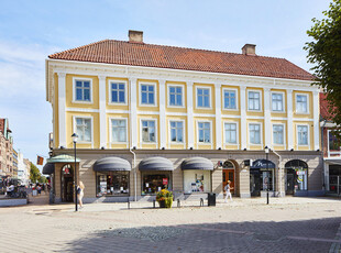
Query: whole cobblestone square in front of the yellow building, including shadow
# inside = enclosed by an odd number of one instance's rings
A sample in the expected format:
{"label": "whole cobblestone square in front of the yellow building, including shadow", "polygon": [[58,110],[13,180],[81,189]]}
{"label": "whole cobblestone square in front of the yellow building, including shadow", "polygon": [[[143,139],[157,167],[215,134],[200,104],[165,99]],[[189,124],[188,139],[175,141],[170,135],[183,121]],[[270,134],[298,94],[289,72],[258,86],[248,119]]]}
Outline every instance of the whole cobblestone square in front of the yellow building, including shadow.
{"label": "whole cobblestone square in front of the yellow building, including shadow", "polygon": [[0,252],[340,252],[341,201],[327,198],[0,208]]}

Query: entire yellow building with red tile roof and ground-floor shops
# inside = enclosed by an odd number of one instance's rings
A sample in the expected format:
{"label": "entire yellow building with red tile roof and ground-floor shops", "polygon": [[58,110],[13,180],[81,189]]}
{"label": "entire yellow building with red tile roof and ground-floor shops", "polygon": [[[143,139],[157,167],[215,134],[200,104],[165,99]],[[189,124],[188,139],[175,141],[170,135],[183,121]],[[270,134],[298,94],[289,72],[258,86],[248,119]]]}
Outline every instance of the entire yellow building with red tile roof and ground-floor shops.
{"label": "entire yellow building with red tile roof and ground-floor shops", "polygon": [[[322,195],[319,89],[284,58],[105,40],[46,59],[56,201]],[[268,160],[265,146],[271,147]]]}

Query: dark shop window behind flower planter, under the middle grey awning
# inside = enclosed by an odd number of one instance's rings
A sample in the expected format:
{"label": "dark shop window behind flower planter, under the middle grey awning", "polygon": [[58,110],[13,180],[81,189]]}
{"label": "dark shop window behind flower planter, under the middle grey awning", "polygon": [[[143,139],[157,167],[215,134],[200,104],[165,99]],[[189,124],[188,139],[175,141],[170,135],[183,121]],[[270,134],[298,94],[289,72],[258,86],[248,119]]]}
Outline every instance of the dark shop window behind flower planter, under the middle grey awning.
{"label": "dark shop window behind flower planter, under the middle grey awning", "polygon": [[141,195],[155,195],[162,189],[172,190],[170,172],[143,172]]}

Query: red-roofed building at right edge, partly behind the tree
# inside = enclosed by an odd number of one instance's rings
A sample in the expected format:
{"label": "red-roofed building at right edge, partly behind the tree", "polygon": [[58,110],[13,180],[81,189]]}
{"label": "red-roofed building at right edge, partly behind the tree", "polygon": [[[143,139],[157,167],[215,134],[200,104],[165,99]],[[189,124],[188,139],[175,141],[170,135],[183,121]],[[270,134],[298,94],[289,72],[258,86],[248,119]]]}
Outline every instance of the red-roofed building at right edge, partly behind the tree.
{"label": "red-roofed building at right edge, partly behind the tree", "polygon": [[323,151],[324,180],[323,186],[329,194],[341,193],[341,148],[340,141],[336,136],[334,128],[337,124],[332,121],[329,111],[327,95],[320,94],[320,114],[321,114],[321,144]]}

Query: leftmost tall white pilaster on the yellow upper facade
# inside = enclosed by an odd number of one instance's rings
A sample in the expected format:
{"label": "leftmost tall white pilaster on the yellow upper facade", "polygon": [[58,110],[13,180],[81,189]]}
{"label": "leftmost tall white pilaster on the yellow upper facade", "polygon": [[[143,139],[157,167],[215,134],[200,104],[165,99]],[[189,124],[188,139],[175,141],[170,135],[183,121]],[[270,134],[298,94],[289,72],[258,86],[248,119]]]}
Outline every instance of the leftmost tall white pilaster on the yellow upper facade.
{"label": "leftmost tall white pilaster on the yellow upper facade", "polygon": [[66,112],[65,112],[65,73],[58,75],[58,124],[59,146],[66,147]]}

